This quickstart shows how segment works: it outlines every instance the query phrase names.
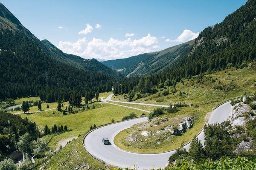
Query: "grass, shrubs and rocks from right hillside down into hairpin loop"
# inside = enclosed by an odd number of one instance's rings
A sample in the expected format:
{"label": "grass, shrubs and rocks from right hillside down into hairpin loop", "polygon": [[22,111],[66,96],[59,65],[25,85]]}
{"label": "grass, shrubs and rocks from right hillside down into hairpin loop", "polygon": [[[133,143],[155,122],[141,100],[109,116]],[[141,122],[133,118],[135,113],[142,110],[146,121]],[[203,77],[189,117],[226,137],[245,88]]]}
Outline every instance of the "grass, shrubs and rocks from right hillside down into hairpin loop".
{"label": "grass, shrubs and rocks from right hillside down into hairpin loop", "polygon": [[[216,88],[217,87],[217,88]],[[220,88],[221,87],[221,88]],[[155,94],[133,102],[172,105],[171,108],[159,107],[148,114],[151,124],[135,125],[122,130],[114,139],[115,144],[125,150],[141,153],[157,153],[172,150],[183,142],[189,142],[207,122],[207,113],[224,100],[244,94],[252,94],[256,88],[256,65],[245,68],[230,68],[213,74],[201,74],[189,79],[182,79],[172,86],[156,89]],[[113,100],[128,101],[128,94],[113,96]],[[128,104],[127,104],[128,105]],[[136,107],[133,105],[133,107]],[[139,107],[139,105],[137,106]],[[182,122],[182,118],[192,117],[193,126],[180,136],[170,134],[172,129]],[[167,120],[168,121],[165,121]],[[163,122],[164,120],[165,122]],[[143,136],[141,133],[148,133]]]}

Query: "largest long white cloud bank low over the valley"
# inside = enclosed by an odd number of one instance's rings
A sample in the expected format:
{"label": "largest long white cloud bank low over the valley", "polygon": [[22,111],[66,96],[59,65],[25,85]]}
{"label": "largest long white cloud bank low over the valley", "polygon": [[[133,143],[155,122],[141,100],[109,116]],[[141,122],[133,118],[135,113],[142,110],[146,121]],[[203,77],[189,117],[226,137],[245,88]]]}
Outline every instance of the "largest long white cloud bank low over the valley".
{"label": "largest long white cloud bank low over the valley", "polygon": [[157,37],[148,34],[138,40],[118,40],[110,38],[108,41],[93,38],[90,41],[84,37],[77,42],[60,41],[58,48],[68,54],[75,54],[84,58],[117,59],[152,52],[159,48]]}

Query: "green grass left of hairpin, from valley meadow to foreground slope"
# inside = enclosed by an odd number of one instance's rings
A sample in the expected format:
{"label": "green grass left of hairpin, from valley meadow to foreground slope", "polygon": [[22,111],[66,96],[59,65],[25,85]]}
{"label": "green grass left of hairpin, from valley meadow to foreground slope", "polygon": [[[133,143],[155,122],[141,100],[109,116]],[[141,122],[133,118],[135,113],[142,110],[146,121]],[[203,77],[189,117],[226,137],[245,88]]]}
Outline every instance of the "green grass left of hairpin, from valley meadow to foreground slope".
{"label": "green grass left of hairpin, from valley meadow to foreground slope", "polygon": [[[110,93],[104,93],[101,96],[108,96]],[[56,103],[52,103],[56,104]],[[95,109],[92,109],[92,106]],[[53,105],[52,105],[53,107]],[[52,114],[54,112],[54,114]],[[62,112],[58,112],[57,109],[51,111],[41,111],[32,114],[20,114],[22,118],[27,117],[32,122],[35,122],[40,128],[44,128],[45,125],[52,127],[54,124],[67,125],[70,131],[61,133],[54,136],[51,142],[48,144],[49,147],[56,149],[61,141],[64,139],[73,139],[72,142],[62,148],[56,155],[54,155],[47,164],[46,168],[55,170],[70,170],[79,164],[89,164],[91,169],[97,169],[98,167],[104,167],[99,161],[93,159],[82,147],[81,137],[89,130],[90,125],[96,124],[96,126],[103,125],[111,122],[112,119],[115,121],[121,120],[123,116],[127,116],[131,112],[140,116],[143,112],[134,109],[124,108],[116,105],[111,105],[102,102],[93,102],[89,104],[89,109],[85,111],[82,108],[73,108],[74,113],[68,113],[63,115]],[[76,113],[78,112],[78,113]],[[81,136],[79,136],[81,135]],[[51,135],[44,136],[48,141]],[[39,161],[39,160],[36,160]],[[42,165],[35,167],[38,170]]]}

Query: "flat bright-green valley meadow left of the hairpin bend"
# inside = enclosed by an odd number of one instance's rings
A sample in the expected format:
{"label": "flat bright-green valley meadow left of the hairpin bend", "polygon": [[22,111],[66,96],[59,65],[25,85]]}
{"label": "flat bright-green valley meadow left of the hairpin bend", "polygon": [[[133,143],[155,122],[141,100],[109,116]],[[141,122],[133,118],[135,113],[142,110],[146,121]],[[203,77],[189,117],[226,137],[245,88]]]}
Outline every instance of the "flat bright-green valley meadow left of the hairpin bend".
{"label": "flat bright-green valley meadow left of the hairpin bend", "polygon": [[102,103],[101,105],[102,107],[87,111],[82,111],[81,108],[75,108],[74,111],[80,110],[80,112],[74,114],[70,113],[68,115],[62,115],[62,112],[58,111],[55,111],[55,114],[52,114],[52,111],[46,111],[28,115],[20,114],[20,116],[23,118],[27,117],[41,128],[44,128],[45,125],[48,127],[52,127],[54,124],[57,126],[67,125],[68,129],[71,129],[71,131],[55,136],[49,143],[50,147],[56,147],[58,142],[63,139],[78,137],[79,134],[82,135],[89,130],[90,125],[103,125],[111,122],[112,118],[116,121],[121,120],[123,116],[126,116],[131,112],[136,113],[137,116],[140,116],[143,113],[142,111],[123,108],[106,103]]}

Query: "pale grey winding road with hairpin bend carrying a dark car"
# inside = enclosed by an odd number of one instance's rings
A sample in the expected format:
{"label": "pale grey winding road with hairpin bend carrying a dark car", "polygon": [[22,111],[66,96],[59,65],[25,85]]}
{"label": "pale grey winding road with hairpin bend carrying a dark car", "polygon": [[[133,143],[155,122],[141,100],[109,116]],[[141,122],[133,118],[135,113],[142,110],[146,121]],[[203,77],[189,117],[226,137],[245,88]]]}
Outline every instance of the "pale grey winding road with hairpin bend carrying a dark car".
{"label": "pale grey winding road with hairpin bend carrying a dark car", "polygon": [[[111,97],[113,95],[107,97],[107,99],[102,100],[102,102],[113,101]],[[119,102],[119,101],[113,101]],[[120,102],[120,103],[128,103],[128,104],[138,104],[132,102]],[[153,104],[143,104],[139,105],[153,105]],[[121,105],[122,106],[122,105]],[[163,106],[163,105],[154,105],[154,106]],[[220,105],[218,108],[212,111],[208,124],[221,123],[227,120],[231,114],[233,106],[230,105],[230,102],[226,102]],[[146,117],[132,119],[125,122],[119,122],[112,125],[107,125],[104,127],[100,127],[96,130],[93,130],[84,138],[84,146],[86,150],[93,156],[98,159],[105,161],[107,164],[111,164],[118,167],[137,167],[137,169],[151,169],[154,167],[164,168],[168,164],[169,156],[175,153],[176,150],[172,150],[165,153],[154,153],[154,154],[142,154],[142,153],[132,153],[125,150],[120,149],[114,144],[114,137],[120,131],[131,127],[134,124],[148,121]],[[111,145],[104,145],[102,143],[102,138],[108,137],[111,142]],[[202,130],[198,134],[198,139],[204,143],[204,131]],[[190,143],[186,144],[184,147],[186,150],[189,149]]]}

